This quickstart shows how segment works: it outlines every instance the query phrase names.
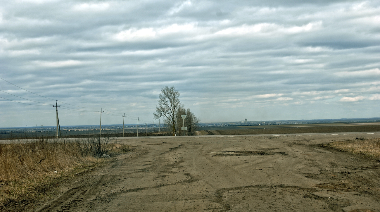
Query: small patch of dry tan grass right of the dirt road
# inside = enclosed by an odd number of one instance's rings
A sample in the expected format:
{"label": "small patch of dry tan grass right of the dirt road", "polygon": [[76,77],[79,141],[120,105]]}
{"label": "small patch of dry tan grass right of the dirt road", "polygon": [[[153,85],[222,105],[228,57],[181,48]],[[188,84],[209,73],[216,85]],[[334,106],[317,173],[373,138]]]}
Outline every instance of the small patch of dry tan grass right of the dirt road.
{"label": "small patch of dry tan grass right of the dirt road", "polygon": [[380,139],[364,139],[357,138],[349,141],[335,141],[325,146],[337,149],[340,151],[351,152],[355,154],[366,155],[367,157],[380,160]]}

